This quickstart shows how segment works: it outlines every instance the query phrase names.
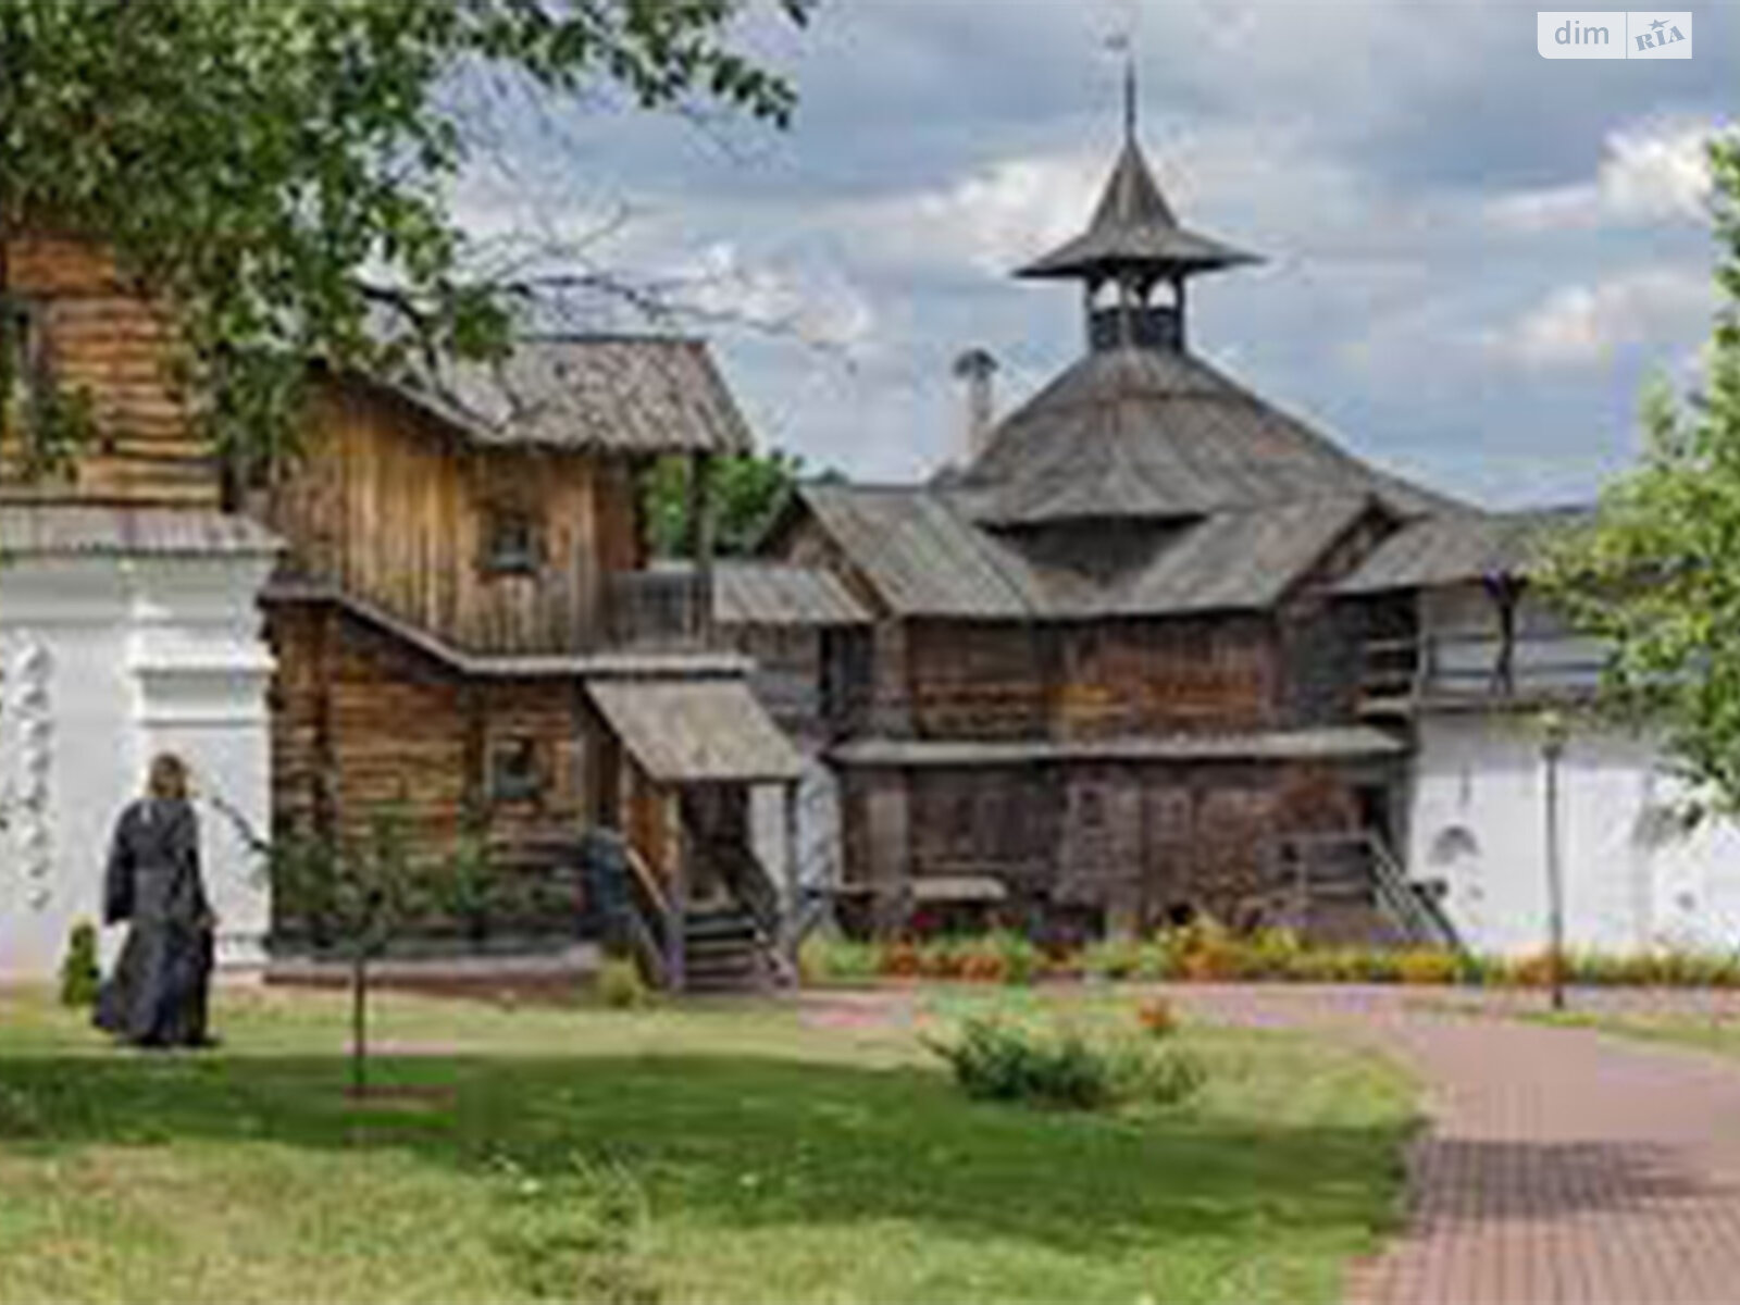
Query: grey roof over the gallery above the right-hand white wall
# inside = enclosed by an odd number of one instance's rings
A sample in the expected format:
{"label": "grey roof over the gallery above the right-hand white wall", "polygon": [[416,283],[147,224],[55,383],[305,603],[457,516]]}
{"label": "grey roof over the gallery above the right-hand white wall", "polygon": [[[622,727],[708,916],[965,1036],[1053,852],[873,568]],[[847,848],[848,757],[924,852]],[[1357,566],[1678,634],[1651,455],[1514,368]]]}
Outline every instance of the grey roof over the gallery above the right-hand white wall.
{"label": "grey roof over the gallery above the right-hand white wall", "polygon": [[1545,534],[1587,520],[1590,508],[1460,512],[1415,522],[1385,539],[1336,593],[1460,585],[1526,572]]}

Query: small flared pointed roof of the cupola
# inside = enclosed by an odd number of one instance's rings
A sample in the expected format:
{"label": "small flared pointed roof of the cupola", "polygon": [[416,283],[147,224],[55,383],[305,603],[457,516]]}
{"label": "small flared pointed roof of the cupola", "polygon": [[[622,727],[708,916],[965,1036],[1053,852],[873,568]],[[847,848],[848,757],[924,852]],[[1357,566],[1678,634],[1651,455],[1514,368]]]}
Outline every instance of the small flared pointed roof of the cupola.
{"label": "small flared pointed roof of the cupola", "polygon": [[1187,275],[1258,261],[1255,254],[1180,226],[1141,146],[1129,137],[1112,165],[1088,230],[1016,275],[1093,278],[1119,266]]}

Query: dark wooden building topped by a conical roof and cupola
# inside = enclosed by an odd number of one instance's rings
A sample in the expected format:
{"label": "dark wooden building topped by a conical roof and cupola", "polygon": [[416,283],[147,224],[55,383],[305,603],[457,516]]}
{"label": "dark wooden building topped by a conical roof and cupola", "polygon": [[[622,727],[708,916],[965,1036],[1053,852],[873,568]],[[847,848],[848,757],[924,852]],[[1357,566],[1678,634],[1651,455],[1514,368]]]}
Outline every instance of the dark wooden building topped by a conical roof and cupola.
{"label": "dark wooden building topped by a conical roof and cupola", "polygon": [[840,786],[840,915],[1047,936],[1209,914],[1441,941],[1390,847],[1408,740],[1361,712],[1340,579],[1460,508],[1364,465],[1188,346],[1187,291],[1253,258],[1181,226],[1131,129],[1088,230],[1086,353],[929,484],[806,485],[769,562],[872,614],[811,733]]}

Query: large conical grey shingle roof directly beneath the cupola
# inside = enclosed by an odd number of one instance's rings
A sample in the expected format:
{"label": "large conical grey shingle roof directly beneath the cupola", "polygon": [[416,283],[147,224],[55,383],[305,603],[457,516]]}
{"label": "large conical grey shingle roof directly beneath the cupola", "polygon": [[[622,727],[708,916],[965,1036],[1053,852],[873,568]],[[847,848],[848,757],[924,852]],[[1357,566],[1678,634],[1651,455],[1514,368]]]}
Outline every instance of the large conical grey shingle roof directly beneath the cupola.
{"label": "large conical grey shingle roof directly beneath the cupola", "polygon": [[1378,496],[1448,501],[1378,472],[1183,350],[1094,350],[1007,416],[950,482],[992,525],[1187,519]]}

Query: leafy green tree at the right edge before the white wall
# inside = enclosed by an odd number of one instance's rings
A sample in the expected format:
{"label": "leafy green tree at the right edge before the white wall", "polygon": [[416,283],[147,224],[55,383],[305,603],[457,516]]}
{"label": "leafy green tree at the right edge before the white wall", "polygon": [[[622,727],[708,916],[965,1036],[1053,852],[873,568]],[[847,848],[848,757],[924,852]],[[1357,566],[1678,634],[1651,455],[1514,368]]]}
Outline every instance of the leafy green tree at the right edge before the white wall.
{"label": "leafy green tree at the right edge before the white wall", "polygon": [[1643,465],[1587,529],[1547,546],[1540,581],[1606,640],[1603,701],[1658,729],[1693,811],[1740,816],[1740,137],[1710,146],[1721,306],[1700,388],[1655,383]]}

